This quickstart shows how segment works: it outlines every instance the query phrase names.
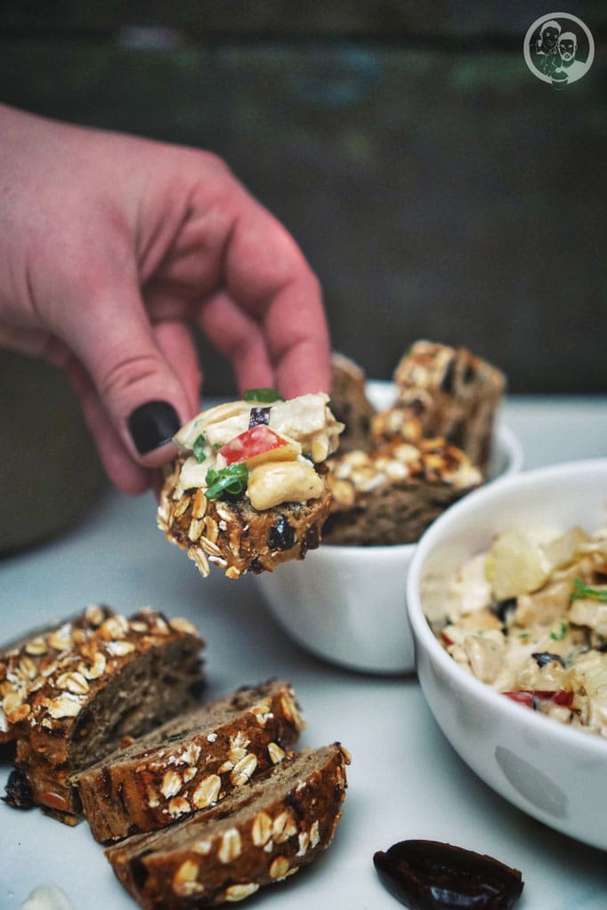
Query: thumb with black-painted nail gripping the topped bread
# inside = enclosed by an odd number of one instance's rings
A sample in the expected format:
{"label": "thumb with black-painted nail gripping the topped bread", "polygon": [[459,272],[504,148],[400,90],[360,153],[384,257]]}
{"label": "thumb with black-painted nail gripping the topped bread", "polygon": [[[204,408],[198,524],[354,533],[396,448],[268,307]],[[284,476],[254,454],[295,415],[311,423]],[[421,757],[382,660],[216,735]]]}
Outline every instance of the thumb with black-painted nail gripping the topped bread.
{"label": "thumb with black-painted nail gripping the topped bread", "polygon": [[[64,316],[63,337],[131,459],[147,468],[166,462],[173,452],[171,437],[189,420],[194,402],[157,344],[138,288],[104,288]],[[187,343],[191,347],[184,339]],[[185,351],[190,386],[197,376],[192,360]]]}

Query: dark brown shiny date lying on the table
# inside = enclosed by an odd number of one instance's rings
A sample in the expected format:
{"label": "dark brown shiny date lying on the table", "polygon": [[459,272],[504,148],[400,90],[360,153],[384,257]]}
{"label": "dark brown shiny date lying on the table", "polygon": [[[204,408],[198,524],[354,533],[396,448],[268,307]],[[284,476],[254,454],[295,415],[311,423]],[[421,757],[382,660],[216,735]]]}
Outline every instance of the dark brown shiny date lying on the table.
{"label": "dark brown shiny date lying on the table", "polygon": [[521,873],[491,856],[438,841],[410,840],[373,854],[379,879],[410,910],[511,910]]}

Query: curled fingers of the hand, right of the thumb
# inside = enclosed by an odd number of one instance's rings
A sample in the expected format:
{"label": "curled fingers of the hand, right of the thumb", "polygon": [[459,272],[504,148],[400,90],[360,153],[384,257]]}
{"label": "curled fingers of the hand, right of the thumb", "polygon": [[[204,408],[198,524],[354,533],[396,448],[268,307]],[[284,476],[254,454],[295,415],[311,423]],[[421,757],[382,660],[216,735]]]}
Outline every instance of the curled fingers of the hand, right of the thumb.
{"label": "curled fingers of the hand, right of the thumb", "polygon": [[276,218],[232,177],[225,180],[223,288],[202,306],[199,324],[233,361],[241,388],[274,385],[288,397],[328,391],[329,329],[319,282]]}

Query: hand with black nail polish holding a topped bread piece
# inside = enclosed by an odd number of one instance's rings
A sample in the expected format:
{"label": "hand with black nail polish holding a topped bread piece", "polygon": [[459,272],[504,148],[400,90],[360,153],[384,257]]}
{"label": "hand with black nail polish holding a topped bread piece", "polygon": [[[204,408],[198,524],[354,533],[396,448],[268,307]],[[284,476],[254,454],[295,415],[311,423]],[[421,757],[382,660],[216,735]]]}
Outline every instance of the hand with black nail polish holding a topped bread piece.
{"label": "hand with black nail polish holding a topped bread piece", "polygon": [[192,325],[241,390],[329,390],[319,283],[218,157],[5,106],[0,136],[0,345],[66,370],[118,489],[197,413]]}

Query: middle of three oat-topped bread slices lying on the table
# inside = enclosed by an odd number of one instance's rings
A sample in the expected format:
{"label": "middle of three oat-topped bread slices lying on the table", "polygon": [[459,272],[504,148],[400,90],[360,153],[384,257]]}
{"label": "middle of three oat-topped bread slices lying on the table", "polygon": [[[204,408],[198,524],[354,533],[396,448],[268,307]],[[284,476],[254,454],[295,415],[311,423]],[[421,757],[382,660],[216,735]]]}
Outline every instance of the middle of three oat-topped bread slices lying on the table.
{"label": "middle of three oat-topped bread slices lying on the table", "polygon": [[76,775],[86,821],[102,842],[164,827],[282,762],[303,727],[279,681],[181,714]]}

